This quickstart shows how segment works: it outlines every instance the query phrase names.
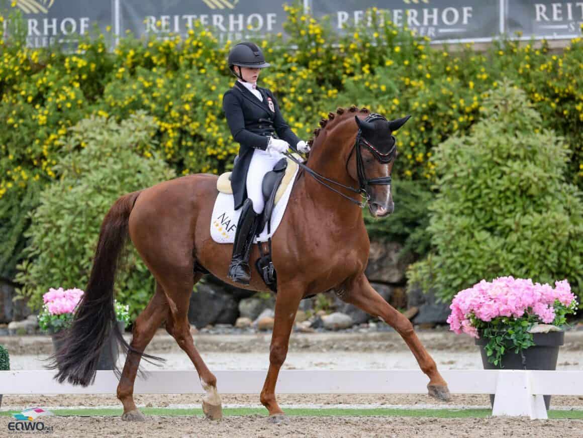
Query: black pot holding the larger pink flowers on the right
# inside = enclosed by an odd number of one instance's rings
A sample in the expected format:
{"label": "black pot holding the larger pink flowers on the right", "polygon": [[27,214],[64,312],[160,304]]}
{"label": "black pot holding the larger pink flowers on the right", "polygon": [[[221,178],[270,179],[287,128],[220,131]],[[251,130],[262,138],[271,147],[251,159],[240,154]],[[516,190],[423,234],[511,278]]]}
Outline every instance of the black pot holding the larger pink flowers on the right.
{"label": "black pot holding the larger pink flowers on the right", "polygon": [[[488,356],[486,355],[488,340],[484,337],[476,339],[476,345],[480,346],[484,369],[555,370],[557,368],[557,358],[559,358],[559,347],[564,344],[565,332],[533,333],[532,338],[535,345],[519,353],[515,353],[514,348],[508,348],[502,355],[502,361],[498,365],[488,362]],[[545,395],[544,398],[548,411],[550,395]],[[490,394],[490,404],[494,407],[494,394]]]}

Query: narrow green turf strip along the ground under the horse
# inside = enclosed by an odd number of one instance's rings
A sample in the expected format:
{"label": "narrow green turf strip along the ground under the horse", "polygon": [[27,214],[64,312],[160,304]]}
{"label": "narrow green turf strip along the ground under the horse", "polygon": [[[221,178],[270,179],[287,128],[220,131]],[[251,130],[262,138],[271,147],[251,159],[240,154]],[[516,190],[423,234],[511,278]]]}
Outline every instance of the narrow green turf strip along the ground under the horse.
{"label": "narrow green turf strip along the ground under the horse", "polygon": [[[50,409],[50,407],[48,408]],[[56,409],[59,416],[120,416],[122,409]],[[142,408],[145,415],[158,416],[203,416],[202,409]],[[290,416],[408,416],[432,418],[487,418],[491,409],[285,409]],[[12,412],[0,412],[8,416]],[[267,416],[264,408],[225,408],[224,416]],[[550,419],[583,419],[583,410],[549,411]]]}

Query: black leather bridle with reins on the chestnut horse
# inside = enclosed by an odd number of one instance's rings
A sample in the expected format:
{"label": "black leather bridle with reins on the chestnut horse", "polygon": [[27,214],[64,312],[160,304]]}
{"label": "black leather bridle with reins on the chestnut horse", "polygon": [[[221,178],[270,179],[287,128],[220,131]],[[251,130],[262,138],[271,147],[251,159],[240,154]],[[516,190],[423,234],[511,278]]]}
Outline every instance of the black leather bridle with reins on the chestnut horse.
{"label": "black leather bridle with reins on the chestnut horse", "polygon": [[[364,119],[365,122],[374,122],[376,120],[387,121],[387,119],[385,119],[384,116],[382,116],[380,114],[376,114],[376,113],[372,113],[372,114],[368,115],[366,119]],[[392,138],[393,138],[393,140],[395,139],[395,137],[392,137]],[[306,172],[308,172],[308,174],[312,175],[316,181],[318,181],[319,183],[321,183],[322,185],[324,185],[328,189],[332,190],[332,192],[338,193],[338,195],[342,196],[343,198],[349,200],[350,202],[352,202],[354,204],[357,204],[357,206],[359,206],[361,209],[363,209],[368,204],[370,204],[371,196],[370,196],[370,193],[368,193],[369,186],[371,186],[371,185],[390,185],[391,184],[391,176],[390,175],[389,176],[381,176],[380,178],[367,179],[366,171],[364,169],[363,158],[362,158],[362,154],[361,154],[361,149],[363,146],[371,151],[371,153],[377,159],[377,161],[379,161],[380,163],[383,163],[383,164],[388,164],[394,159],[396,142],[394,142],[393,147],[391,147],[391,150],[389,150],[387,153],[382,153],[380,150],[375,148],[373,144],[368,142],[368,140],[366,140],[363,137],[362,130],[359,128],[359,132],[356,134],[356,142],[354,142],[354,146],[350,150],[350,154],[348,155],[348,159],[346,160],[346,171],[348,171],[348,163],[350,162],[350,157],[352,157],[352,154],[356,150],[356,172],[357,172],[357,176],[359,179],[359,188],[357,188],[357,189],[354,187],[351,187],[351,186],[343,185],[342,183],[339,183],[337,181],[333,181],[333,179],[328,179],[325,176],[318,174],[318,172],[313,171],[312,169],[307,167],[307,165],[298,161],[296,159],[296,157],[294,157],[293,155],[291,155],[288,152],[285,152],[284,155],[287,158],[290,158],[291,161],[293,161],[294,163],[299,165],[301,168],[303,168]],[[363,201],[357,201],[356,199],[354,199],[350,196],[346,196],[344,193],[339,192],[339,190],[336,190],[332,186],[329,186],[324,181],[335,184],[339,187],[342,187],[343,189],[350,190],[350,192],[359,194],[363,198]]]}

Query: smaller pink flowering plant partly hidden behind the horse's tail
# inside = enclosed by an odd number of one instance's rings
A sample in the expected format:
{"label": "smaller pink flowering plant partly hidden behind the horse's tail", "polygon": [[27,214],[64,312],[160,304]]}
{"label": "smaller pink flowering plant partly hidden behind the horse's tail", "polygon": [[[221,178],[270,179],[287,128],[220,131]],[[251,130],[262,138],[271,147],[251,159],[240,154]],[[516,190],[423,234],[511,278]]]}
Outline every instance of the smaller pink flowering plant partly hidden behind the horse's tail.
{"label": "smaller pink flowering plant partly hidden behind the horse's tail", "polygon": [[[83,298],[81,289],[50,288],[43,295],[43,310],[38,315],[38,326],[47,333],[57,333],[68,328],[72,321],[77,305]],[[117,320],[127,324],[129,322],[129,306],[114,301]]]}

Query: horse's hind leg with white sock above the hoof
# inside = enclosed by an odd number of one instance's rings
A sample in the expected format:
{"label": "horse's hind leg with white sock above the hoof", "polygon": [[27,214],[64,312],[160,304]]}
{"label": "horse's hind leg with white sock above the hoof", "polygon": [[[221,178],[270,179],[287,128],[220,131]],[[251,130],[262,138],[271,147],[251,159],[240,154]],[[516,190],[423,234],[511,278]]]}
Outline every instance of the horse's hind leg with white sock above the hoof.
{"label": "horse's hind leg with white sock above the hoof", "polygon": [[[192,274],[189,275],[192,278]],[[196,372],[198,372],[201,385],[206,391],[202,399],[202,410],[206,418],[219,420],[223,418],[223,407],[220,395],[217,392],[217,379],[210,372],[194,346],[194,340],[192,340],[192,334],[190,333],[190,323],[188,322],[188,306],[192,287],[195,282],[201,279],[202,274],[196,274],[194,282],[192,280],[185,281],[187,277],[188,275],[185,273],[182,278],[165,279],[164,290],[166,291],[168,303],[170,303],[170,309],[168,309],[167,313],[166,330],[188,355],[196,368]]]}

